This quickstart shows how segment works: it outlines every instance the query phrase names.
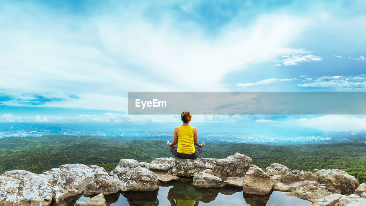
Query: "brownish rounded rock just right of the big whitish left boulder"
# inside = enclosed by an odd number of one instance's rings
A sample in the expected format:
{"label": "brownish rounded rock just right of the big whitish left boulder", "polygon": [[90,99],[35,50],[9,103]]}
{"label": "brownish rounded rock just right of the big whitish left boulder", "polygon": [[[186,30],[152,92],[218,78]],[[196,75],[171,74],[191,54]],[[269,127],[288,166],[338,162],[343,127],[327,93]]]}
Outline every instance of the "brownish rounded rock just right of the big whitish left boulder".
{"label": "brownish rounded rock just right of the big whitish left boulder", "polygon": [[84,196],[113,194],[121,190],[122,181],[114,176],[100,176],[87,185]]}

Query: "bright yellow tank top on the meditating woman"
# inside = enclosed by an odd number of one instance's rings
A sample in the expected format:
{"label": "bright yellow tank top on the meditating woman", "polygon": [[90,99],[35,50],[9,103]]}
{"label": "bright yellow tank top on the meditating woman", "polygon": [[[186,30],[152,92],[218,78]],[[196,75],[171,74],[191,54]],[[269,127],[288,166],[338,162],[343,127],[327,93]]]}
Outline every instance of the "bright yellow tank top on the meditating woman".
{"label": "bright yellow tank top on the meditating woman", "polygon": [[179,126],[177,152],[192,154],[196,150],[193,144],[193,126]]}

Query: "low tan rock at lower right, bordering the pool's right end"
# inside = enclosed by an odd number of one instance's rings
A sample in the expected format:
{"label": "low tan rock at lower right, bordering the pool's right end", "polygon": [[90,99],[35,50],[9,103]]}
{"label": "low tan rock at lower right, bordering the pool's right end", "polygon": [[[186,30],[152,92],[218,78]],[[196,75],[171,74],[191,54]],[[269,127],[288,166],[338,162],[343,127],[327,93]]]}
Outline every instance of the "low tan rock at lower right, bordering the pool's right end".
{"label": "low tan rock at lower right, bordering the pool's right end", "polygon": [[301,199],[306,199],[311,202],[315,202],[315,199],[324,198],[325,196],[333,194],[328,191],[325,185],[320,185],[315,181],[304,180],[287,185],[290,188],[290,192],[286,192],[285,195],[295,196]]}

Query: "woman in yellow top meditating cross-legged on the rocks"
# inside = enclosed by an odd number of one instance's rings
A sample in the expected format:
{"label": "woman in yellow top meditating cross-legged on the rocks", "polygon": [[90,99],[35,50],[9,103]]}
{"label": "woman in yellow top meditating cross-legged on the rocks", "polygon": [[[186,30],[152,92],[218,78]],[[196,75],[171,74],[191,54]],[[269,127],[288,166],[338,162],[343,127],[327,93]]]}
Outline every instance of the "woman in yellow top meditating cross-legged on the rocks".
{"label": "woman in yellow top meditating cross-legged on the rocks", "polygon": [[195,159],[201,154],[202,147],[205,146],[204,142],[202,144],[197,142],[197,129],[188,125],[191,120],[192,115],[188,111],[183,112],[183,124],[174,129],[174,141],[172,143],[167,141],[169,150],[175,157]]}

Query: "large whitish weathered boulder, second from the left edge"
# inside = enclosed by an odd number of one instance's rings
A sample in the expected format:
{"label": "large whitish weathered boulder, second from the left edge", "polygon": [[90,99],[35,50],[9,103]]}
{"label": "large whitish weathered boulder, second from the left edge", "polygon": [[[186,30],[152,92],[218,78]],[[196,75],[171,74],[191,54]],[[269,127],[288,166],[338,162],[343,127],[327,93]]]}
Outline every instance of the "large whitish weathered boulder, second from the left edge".
{"label": "large whitish weathered boulder, second from the left edge", "polygon": [[55,203],[57,206],[70,205],[76,196],[81,195],[86,186],[91,183],[96,173],[95,168],[83,164],[61,165],[40,174],[48,177],[48,182],[53,186]]}

